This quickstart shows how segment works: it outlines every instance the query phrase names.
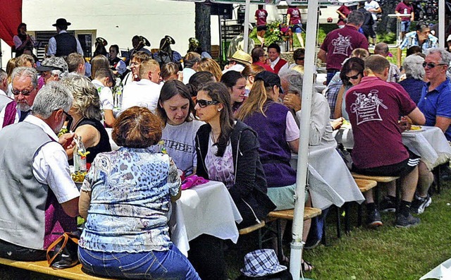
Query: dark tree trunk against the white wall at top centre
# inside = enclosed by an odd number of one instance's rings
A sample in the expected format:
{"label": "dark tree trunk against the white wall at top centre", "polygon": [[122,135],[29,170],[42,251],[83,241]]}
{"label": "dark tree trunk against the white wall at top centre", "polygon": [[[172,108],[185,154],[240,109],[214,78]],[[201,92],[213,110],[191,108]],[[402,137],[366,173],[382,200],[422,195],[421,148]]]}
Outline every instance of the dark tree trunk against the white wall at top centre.
{"label": "dark tree trunk against the white wall at top centre", "polygon": [[204,3],[195,3],[195,6],[196,38],[199,40],[202,51],[211,53],[211,6]]}

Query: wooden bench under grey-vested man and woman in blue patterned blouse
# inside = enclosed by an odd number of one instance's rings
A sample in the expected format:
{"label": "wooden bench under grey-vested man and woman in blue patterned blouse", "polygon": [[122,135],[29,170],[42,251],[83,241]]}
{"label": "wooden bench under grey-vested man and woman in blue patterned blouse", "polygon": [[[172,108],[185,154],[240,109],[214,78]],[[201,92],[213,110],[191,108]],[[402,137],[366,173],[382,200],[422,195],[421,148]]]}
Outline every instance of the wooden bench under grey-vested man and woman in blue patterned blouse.
{"label": "wooden bench under grey-vested man and woman in blue patterned blouse", "polygon": [[67,269],[52,269],[49,267],[47,260],[42,260],[39,262],[20,262],[17,260],[8,260],[0,257],[0,264],[8,265],[10,267],[17,267],[20,269],[30,270],[32,272],[38,272],[42,274],[57,276],[66,279],[73,280],[108,280],[107,278],[91,276],[82,272],[82,265],[77,264],[75,267],[70,267]]}

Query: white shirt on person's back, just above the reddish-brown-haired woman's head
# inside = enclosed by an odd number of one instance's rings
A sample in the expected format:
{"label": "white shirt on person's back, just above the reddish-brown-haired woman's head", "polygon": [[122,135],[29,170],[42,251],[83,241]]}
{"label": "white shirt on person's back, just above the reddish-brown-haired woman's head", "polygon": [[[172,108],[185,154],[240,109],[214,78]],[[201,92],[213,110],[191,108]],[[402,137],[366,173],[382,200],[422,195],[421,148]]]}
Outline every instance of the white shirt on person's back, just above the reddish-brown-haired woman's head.
{"label": "white shirt on person's back, just above the reddish-brown-haired woman's head", "polygon": [[142,106],[147,107],[154,113],[160,97],[161,87],[163,87],[163,83],[157,84],[147,79],[128,83],[125,85],[122,93],[121,112],[132,106]]}

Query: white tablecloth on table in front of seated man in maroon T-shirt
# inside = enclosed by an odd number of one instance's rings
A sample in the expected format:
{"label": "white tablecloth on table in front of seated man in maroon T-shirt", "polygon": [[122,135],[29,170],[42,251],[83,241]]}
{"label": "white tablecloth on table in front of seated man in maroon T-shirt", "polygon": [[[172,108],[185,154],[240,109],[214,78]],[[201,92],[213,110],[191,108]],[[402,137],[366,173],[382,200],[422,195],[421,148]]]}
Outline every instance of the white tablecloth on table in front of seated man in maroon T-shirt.
{"label": "white tablecloth on table in front of seated man in maroon T-shirt", "polygon": [[[342,143],[346,149],[352,149],[354,147],[352,128],[340,129],[335,135],[335,140]],[[445,134],[435,126],[421,126],[421,130],[404,131],[402,143],[418,154],[429,169],[447,162],[451,157],[451,147]]]}

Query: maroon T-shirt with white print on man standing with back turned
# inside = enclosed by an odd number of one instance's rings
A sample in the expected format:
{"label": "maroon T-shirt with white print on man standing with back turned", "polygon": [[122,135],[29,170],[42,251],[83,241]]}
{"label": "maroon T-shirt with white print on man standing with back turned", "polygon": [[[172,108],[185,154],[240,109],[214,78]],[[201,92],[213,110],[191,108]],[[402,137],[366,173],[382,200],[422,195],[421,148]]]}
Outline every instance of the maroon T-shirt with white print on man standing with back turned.
{"label": "maroon T-shirt with white print on man standing with back turned", "polygon": [[344,28],[329,32],[321,45],[321,49],[327,53],[327,70],[340,71],[342,62],[357,48],[368,50],[368,40],[353,26],[345,25]]}

